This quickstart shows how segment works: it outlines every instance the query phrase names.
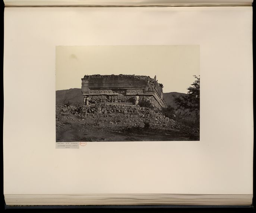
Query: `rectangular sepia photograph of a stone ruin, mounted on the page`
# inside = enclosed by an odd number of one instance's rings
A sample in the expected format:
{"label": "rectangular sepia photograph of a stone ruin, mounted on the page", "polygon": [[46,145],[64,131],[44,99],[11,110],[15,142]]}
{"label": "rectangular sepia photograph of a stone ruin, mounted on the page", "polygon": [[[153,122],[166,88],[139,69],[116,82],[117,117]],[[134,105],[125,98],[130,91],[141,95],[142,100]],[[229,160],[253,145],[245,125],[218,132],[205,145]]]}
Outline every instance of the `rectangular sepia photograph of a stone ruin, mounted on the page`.
{"label": "rectangular sepia photograph of a stone ruin, mounted on the page", "polygon": [[56,46],[56,142],[199,141],[199,45]]}

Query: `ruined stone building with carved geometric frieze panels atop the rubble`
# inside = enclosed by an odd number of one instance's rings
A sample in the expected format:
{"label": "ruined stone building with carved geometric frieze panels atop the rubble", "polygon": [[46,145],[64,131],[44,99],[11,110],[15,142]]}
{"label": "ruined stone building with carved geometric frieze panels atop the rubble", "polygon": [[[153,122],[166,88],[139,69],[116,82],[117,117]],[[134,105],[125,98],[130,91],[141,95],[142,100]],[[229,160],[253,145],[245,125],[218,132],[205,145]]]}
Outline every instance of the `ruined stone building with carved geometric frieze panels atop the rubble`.
{"label": "ruined stone building with carved geometric frieze panels atop the rubble", "polygon": [[145,75],[85,75],[82,78],[82,94],[84,105],[135,105],[146,99],[154,107],[167,107],[156,76],[153,79]]}

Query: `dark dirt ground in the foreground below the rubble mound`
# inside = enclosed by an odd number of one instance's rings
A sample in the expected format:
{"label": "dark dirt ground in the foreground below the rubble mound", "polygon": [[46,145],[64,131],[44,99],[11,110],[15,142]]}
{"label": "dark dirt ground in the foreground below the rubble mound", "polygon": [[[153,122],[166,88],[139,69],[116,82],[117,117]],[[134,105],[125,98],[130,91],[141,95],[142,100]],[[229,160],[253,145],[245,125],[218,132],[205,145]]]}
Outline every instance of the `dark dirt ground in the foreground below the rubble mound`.
{"label": "dark dirt ground in the foreground below the rubble mound", "polygon": [[141,118],[118,120],[105,117],[81,118],[73,114],[56,121],[56,142],[75,141],[199,141],[187,134],[154,125],[145,128]]}

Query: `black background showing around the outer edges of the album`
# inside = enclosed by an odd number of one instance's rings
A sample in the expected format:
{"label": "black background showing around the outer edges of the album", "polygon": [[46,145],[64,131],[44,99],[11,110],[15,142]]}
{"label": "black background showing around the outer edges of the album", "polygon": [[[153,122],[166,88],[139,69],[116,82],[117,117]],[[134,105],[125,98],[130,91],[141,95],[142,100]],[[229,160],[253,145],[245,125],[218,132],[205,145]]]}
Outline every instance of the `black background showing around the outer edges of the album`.
{"label": "black background showing around the outer edges of the album", "polygon": [[[4,34],[4,3],[3,0],[0,0],[0,11],[1,11],[1,34]],[[255,28],[255,7],[253,4],[253,29]],[[0,67],[3,70],[3,36],[0,39],[1,43],[1,59],[0,59]],[[254,72],[253,72],[254,73]],[[3,100],[3,72],[1,75],[1,99]],[[254,83],[254,80],[253,80]],[[254,90],[254,89],[253,89]],[[255,93],[254,93],[255,94]],[[254,99],[254,95],[253,95]],[[1,107],[2,107],[2,113],[1,113],[1,119],[3,120],[3,101],[1,101]],[[255,116],[254,116],[255,119]],[[3,123],[3,122],[1,122]],[[3,128],[2,128],[3,129]],[[1,146],[1,149],[3,149],[3,146]],[[255,153],[255,146],[253,149]],[[0,151],[1,153],[1,159],[3,159],[3,151]],[[3,161],[1,163],[1,166],[3,168]],[[3,171],[3,169],[2,169]],[[255,176],[255,158],[253,159],[253,175]],[[255,179],[255,178],[254,178]],[[16,207],[7,207],[4,203],[4,196],[3,196],[3,172],[1,175],[1,207],[0,210],[4,210],[5,212],[114,212],[114,213],[128,213],[128,212],[147,212],[147,213],[153,213],[153,212],[159,212],[159,213],[169,213],[169,212],[189,212],[189,213],[203,213],[203,212],[218,212],[218,213],[230,213],[230,212],[254,212],[255,208],[255,198],[253,199],[253,205],[250,207],[214,207],[214,206],[39,206],[39,207],[22,207],[22,206],[16,206]],[[236,186],[234,186],[236,187]],[[253,185],[253,194],[255,194],[255,184]]]}

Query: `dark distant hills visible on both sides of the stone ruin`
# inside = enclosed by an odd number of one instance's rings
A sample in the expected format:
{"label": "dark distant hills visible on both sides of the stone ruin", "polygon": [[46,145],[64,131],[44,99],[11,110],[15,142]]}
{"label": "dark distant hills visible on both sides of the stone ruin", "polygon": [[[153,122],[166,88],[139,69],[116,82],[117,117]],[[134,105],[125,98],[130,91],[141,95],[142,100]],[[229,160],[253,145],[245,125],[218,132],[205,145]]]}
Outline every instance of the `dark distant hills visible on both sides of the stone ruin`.
{"label": "dark distant hills visible on both sides of the stone ruin", "polygon": [[[171,105],[173,107],[176,107],[174,97],[186,95],[184,93],[177,93],[177,92],[171,92],[171,93],[164,93],[164,100],[168,105]],[[83,101],[83,96],[81,93],[80,88],[71,88],[69,90],[57,90],[56,91],[56,104],[62,104],[63,99],[66,98],[71,103],[77,103]]]}

